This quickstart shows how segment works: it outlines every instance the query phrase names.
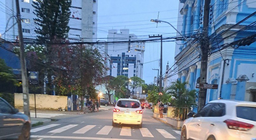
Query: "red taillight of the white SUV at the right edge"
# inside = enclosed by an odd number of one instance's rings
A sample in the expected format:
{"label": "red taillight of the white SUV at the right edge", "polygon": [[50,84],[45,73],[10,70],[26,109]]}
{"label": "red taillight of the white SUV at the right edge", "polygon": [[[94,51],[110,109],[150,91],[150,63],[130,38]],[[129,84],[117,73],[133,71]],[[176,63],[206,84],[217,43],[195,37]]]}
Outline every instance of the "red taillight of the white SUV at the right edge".
{"label": "red taillight of the white SUV at the right edge", "polygon": [[254,125],[232,120],[232,119],[226,119],[224,123],[227,124],[227,127],[229,129],[235,129],[235,130],[242,130],[242,131],[248,131],[250,130]]}

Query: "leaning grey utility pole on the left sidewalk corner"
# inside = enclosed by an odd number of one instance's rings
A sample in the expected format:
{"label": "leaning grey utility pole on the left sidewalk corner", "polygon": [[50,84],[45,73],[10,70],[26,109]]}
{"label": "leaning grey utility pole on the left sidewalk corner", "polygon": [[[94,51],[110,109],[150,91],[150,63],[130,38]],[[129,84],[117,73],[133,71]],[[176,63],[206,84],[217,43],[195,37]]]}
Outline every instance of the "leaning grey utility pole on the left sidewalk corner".
{"label": "leaning grey utility pole on the left sidewalk corner", "polygon": [[20,46],[20,64],[21,64],[22,91],[23,91],[23,111],[24,111],[24,114],[26,114],[27,116],[30,117],[28,76],[27,76],[26,62],[25,62],[24,41],[23,41],[21,19],[20,19],[19,0],[16,0],[16,10],[17,10],[17,23],[18,23],[18,33],[19,33],[19,46]]}

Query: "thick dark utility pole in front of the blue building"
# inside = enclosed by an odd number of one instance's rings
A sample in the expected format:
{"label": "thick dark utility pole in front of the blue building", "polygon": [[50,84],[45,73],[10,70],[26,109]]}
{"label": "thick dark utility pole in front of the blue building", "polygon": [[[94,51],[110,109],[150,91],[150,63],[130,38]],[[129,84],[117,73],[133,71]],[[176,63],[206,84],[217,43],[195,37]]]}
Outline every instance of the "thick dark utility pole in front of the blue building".
{"label": "thick dark utility pole in front of the blue building", "polygon": [[[209,28],[210,3],[211,3],[211,0],[205,0],[203,33],[202,33],[202,38],[200,40],[201,72],[200,72],[199,83],[201,84],[206,84],[206,80],[207,80],[206,77],[207,77],[207,63],[208,63],[208,50],[209,50],[208,28]],[[205,106],[206,92],[207,92],[207,89],[205,88],[200,88],[199,90],[198,111]]]}

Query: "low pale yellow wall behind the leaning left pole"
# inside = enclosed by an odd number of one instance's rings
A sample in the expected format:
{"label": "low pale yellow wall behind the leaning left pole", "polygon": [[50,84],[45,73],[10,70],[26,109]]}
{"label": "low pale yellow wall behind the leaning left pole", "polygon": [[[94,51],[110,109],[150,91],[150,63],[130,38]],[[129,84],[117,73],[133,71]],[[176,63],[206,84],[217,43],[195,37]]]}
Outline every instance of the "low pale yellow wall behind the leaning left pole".
{"label": "low pale yellow wall behind the leaning left pole", "polygon": [[[35,96],[29,94],[30,108],[35,108]],[[14,105],[16,108],[23,107],[23,94],[14,94]],[[67,96],[54,96],[46,94],[36,94],[36,108],[37,109],[52,109],[57,110],[59,107],[67,109]]]}

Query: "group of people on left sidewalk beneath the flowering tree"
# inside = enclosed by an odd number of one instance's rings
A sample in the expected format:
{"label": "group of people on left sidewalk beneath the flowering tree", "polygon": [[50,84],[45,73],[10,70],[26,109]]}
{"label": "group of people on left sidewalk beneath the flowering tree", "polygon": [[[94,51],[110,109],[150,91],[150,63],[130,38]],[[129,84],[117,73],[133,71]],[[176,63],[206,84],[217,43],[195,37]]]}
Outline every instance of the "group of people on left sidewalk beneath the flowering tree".
{"label": "group of people on left sidewalk beneath the flowering tree", "polygon": [[[77,111],[79,111],[79,110],[80,110],[80,105],[81,105],[81,98],[80,98],[80,97],[77,98],[76,104],[77,104]],[[87,101],[86,98],[85,98],[85,100],[84,100],[84,106],[85,106],[85,107],[88,107],[89,110],[92,110],[93,112],[94,112],[95,106],[96,106],[97,111],[99,111],[99,102],[98,102],[98,100],[95,100],[95,101],[93,102],[91,99],[89,99],[89,100]]]}

